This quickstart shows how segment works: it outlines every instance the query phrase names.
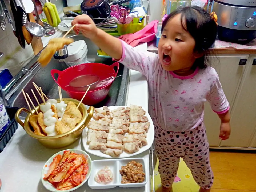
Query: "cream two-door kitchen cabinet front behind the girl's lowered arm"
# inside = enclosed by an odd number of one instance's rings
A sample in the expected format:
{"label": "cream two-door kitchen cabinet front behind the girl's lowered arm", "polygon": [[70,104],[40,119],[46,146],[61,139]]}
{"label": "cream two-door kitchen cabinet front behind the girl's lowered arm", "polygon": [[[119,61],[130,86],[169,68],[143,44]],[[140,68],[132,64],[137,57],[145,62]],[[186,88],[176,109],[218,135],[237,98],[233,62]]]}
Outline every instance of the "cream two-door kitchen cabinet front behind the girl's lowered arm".
{"label": "cream two-door kitchen cabinet front behind the girl's lowered arm", "polygon": [[256,150],[256,55],[211,55],[210,61],[229,100],[231,114],[230,138],[221,141],[221,121],[205,104],[204,122],[210,147]]}

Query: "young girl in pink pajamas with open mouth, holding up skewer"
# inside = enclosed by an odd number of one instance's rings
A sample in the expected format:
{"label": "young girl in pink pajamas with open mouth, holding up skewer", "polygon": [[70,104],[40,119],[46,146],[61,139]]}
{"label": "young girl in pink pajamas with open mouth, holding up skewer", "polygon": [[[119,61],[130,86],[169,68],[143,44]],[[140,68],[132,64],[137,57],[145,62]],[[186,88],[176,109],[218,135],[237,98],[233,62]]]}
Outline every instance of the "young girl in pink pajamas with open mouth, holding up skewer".
{"label": "young girl in pink pajamas with open mouth, holding up skewer", "polygon": [[199,7],[185,7],[163,22],[158,54],[140,52],[97,29],[87,15],[75,17],[72,25],[116,61],[146,76],[149,113],[155,127],[155,151],[159,159],[162,191],[170,191],[182,157],[201,187],[210,191],[213,173],[209,144],[203,123],[208,101],[221,119],[220,135],[230,135],[229,103],[216,71],[205,64],[213,45],[217,24]]}

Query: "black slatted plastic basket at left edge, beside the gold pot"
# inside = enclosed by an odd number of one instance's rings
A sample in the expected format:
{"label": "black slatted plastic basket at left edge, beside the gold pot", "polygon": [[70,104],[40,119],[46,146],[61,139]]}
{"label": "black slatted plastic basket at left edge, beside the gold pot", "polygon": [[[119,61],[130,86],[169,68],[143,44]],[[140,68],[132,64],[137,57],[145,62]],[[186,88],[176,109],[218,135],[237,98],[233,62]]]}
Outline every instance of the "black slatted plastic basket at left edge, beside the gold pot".
{"label": "black slatted plastic basket at left edge, beside the gold pot", "polygon": [[6,107],[7,113],[10,117],[10,123],[4,133],[0,136],[0,153],[3,151],[11,137],[18,129],[18,123],[15,120],[15,113],[18,111],[18,107]]}

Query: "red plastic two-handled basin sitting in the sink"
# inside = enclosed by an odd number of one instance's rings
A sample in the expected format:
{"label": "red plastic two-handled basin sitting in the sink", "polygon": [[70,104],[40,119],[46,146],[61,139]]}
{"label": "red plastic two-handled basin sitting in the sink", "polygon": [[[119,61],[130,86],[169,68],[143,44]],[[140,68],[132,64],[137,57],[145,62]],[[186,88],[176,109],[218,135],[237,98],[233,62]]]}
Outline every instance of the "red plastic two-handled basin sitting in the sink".
{"label": "red plastic two-handled basin sitting in the sink", "polygon": [[[114,70],[114,68],[116,68],[116,71]],[[109,77],[116,77],[118,70],[118,62],[115,62],[110,66],[101,63],[83,63],[80,65],[69,67],[64,71],[52,69],[51,76],[53,77],[54,81],[61,87],[61,89],[67,92],[70,98],[77,99],[80,101],[85,92],[71,91],[67,88],[69,83],[74,78],[82,75],[97,75],[102,80]],[[57,80],[54,78],[54,74],[56,73],[58,74]],[[109,89],[113,81],[110,81],[110,83],[108,83],[107,85],[99,87],[96,90],[89,90],[82,102],[86,105],[95,105],[103,101],[107,97],[107,94],[109,93]]]}

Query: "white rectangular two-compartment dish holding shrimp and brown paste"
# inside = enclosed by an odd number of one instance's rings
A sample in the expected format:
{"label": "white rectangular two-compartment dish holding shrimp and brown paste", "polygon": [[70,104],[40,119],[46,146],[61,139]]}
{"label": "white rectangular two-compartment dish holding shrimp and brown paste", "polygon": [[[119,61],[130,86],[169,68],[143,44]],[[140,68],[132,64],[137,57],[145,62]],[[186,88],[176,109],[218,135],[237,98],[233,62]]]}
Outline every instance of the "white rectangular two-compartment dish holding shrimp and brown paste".
{"label": "white rectangular two-compartment dish holding shrimp and brown paste", "polygon": [[[107,160],[95,160],[91,162],[92,165],[92,175],[88,180],[88,186],[91,189],[112,189],[117,186],[119,187],[143,187],[147,183],[147,176],[145,175],[145,181],[143,183],[128,183],[128,184],[121,184],[122,181],[122,176],[120,174],[120,169],[122,166],[127,165],[130,161],[136,161],[138,163],[142,164],[143,171],[145,172],[145,162],[143,158],[130,158],[130,159],[107,159]],[[98,173],[99,170],[109,167],[113,174],[113,181],[110,183],[104,185],[104,184],[99,184],[95,181],[94,177]]]}

